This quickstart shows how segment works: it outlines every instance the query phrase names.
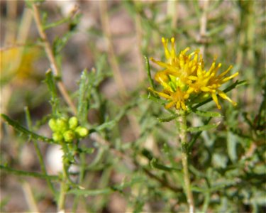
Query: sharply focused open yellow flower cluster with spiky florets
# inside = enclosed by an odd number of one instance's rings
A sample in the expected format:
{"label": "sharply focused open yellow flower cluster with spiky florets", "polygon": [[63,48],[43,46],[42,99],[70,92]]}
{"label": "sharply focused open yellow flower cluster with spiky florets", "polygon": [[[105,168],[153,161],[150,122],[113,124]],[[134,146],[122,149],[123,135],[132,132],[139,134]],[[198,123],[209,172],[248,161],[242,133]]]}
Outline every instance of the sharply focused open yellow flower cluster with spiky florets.
{"label": "sharply focused open yellow flower cluster with spiky florets", "polygon": [[155,75],[155,80],[162,85],[163,90],[157,92],[152,88],[151,91],[169,100],[165,108],[175,107],[176,109],[187,110],[187,105],[193,104],[195,99],[203,99],[211,95],[218,109],[221,105],[218,103],[218,96],[228,100],[234,106],[236,105],[219,87],[228,82],[235,74],[226,77],[226,74],[232,69],[232,66],[218,75],[218,69],[221,63],[216,65],[216,60],[212,62],[209,70],[204,70],[204,60],[199,50],[187,54],[189,48],[182,50],[178,55],[174,48],[174,38],[171,38],[171,48],[168,48],[168,39],[162,38],[162,45],[165,48],[166,62],[157,61],[151,58],[153,62],[164,69]]}

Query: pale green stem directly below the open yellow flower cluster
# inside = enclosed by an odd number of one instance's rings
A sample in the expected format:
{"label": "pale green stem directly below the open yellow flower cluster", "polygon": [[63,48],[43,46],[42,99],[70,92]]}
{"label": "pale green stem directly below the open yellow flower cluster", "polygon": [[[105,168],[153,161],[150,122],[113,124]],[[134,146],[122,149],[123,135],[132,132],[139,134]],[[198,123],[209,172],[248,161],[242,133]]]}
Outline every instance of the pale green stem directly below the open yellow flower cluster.
{"label": "pale green stem directly below the open yellow flower cluster", "polygon": [[187,120],[186,116],[181,113],[178,117],[179,121],[179,140],[182,146],[182,165],[183,165],[183,173],[184,173],[184,191],[187,195],[187,203],[189,204],[189,212],[194,212],[194,199],[190,186],[189,179],[189,168],[188,168],[188,149],[187,149]]}

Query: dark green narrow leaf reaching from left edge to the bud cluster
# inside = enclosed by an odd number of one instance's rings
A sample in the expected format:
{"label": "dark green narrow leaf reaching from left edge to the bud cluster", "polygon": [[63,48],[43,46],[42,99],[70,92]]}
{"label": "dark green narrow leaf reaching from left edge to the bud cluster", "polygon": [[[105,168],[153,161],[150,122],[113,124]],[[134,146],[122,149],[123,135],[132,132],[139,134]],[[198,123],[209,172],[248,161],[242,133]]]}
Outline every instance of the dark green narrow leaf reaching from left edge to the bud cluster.
{"label": "dark green narrow leaf reaching from left edge to the bud cluster", "polygon": [[21,126],[21,124],[18,124],[17,121],[14,121],[12,119],[9,118],[9,116],[6,116],[5,114],[1,114],[1,117],[10,125],[13,126],[14,129],[16,129],[17,131],[25,134],[28,137],[31,137],[35,140],[40,140],[40,141],[45,141],[48,143],[55,143],[54,141],[52,141],[52,139],[50,138],[46,138],[44,136],[40,136],[32,131],[29,131],[28,129],[24,128],[23,126]]}

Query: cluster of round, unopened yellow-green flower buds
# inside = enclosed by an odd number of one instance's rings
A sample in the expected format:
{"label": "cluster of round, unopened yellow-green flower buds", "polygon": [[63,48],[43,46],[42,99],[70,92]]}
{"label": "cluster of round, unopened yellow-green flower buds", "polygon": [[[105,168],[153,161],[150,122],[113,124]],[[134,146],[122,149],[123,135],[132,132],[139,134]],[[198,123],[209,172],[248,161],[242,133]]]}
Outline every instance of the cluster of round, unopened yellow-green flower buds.
{"label": "cluster of round, unopened yellow-green flower buds", "polygon": [[64,117],[50,119],[48,124],[53,132],[52,139],[54,141],[71,142],[74,139],[84,138],[89,133],[87,128],[79,126],[79,121],[75,116],[70,119]]}

